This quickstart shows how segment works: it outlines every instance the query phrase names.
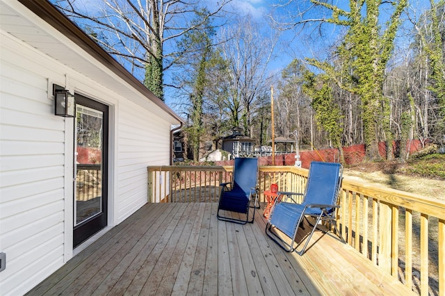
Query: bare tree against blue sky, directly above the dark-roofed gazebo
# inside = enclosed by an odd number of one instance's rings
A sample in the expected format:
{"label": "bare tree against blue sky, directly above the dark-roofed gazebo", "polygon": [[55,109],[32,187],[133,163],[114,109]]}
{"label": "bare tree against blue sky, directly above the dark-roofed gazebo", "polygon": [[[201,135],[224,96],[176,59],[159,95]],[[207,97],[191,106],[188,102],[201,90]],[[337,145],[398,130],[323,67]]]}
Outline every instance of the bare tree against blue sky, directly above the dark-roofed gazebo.
{"label": "bare tree against blue sky, directly above the dark-roofed gazebo", "polygon": [[267,38],[252,17],[247,16],[238,17],[219,36],[222,41],[227,40],[220,47],[227,65],[219,81],[227,96],[223,106],[232,127],[243,126],[251,135],[255,103],[270,88],[272,76],[267,69],[273,58],[277,34],[271,33]]}

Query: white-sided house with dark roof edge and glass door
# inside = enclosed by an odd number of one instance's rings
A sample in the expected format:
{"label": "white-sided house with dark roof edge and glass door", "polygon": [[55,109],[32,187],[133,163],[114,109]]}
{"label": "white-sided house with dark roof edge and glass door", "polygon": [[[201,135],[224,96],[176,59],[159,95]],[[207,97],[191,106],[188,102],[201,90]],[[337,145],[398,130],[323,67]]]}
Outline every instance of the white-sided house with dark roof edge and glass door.
{"label": "white-sided house with dark roof edge and glass door", "polygon": [[0,295],[22,295],[147,203],[181,119],[48,1],[0,13]]}

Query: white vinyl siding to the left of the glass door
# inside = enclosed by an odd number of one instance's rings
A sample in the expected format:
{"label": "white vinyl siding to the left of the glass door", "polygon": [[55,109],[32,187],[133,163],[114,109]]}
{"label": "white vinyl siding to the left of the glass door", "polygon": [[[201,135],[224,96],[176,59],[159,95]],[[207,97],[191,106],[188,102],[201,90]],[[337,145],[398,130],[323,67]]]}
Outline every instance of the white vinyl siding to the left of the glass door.
{"label": "white vinyl siding to the left of the glass door", "polygon": [[18,295],[64,262],[65,122],[49,116],[42,56],[9,41],[1,36],[0,286]]}

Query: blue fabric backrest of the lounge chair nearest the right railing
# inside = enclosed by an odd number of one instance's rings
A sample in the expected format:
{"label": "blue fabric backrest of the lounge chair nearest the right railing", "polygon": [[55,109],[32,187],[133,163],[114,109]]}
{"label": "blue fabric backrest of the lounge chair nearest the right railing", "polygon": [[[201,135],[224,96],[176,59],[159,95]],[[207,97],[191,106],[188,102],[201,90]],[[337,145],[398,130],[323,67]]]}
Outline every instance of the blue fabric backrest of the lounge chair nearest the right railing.
{"label": "blue fabric backrest of the lounge chair nearest the right railing", "polygon": [[309,167],[303,204],[337,204],[342,174],[340,163],[313,161]]}

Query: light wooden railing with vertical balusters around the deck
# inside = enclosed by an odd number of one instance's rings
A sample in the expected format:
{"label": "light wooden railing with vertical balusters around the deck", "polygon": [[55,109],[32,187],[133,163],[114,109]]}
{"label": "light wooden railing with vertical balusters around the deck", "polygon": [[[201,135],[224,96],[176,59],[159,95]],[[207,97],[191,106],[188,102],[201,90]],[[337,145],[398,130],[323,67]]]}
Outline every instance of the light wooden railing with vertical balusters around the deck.
{"label": "light wooden railing with vertical balusters around the deck", "polygon": [[[218,202],[231,166],[148,167],[149,202]],[[303,192],[307,170],[259,167],[259,200],[277,183]],[[445,295],[445,202],[343,179],[337,226],[349,245],[420,295]]]}

